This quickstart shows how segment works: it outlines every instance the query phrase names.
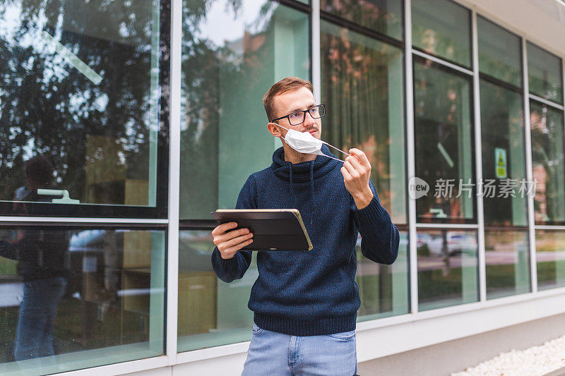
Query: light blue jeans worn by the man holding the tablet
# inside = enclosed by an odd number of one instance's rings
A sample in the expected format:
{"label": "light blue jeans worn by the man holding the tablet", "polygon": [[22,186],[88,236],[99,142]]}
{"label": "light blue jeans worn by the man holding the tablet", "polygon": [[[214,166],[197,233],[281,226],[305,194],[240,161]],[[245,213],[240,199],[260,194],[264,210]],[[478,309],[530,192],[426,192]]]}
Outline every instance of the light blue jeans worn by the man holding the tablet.
{"label": "light blue jeans worn by the man holding the tablet", "polygon": [[355,373],[355,330],[322,336],[290,336],[254,324],[242,376],[352,376]]}

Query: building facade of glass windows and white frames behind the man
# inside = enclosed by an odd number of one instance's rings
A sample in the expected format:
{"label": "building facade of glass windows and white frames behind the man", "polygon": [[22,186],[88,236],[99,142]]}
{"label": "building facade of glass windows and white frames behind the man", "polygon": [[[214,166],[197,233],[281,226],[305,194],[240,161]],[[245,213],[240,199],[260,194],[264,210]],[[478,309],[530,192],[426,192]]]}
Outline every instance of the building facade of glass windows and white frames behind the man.
{"label": "building facade of glass windows and white frames behind the man", "polygon": [[0,4],[2,375],[239,375],[255,257],[216,278],[210,212],[290,75],[400,231],[359,362],[565,313],[565,3],[310,1]]}

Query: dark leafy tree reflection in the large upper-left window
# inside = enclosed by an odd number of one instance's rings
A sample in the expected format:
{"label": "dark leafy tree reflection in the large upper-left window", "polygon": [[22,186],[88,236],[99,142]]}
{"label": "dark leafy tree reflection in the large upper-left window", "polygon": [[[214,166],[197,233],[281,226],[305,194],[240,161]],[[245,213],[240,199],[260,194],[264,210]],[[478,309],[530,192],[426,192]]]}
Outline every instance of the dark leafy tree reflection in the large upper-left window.
{"label": "dark leafy tree reflection in the large upper-left window", "polygon": [[[124,178],[147,180],[151,7],[150,1],[62,0],[0,6],[0,25],[6,25],[0,35],[0,199],[11,199],[23,159],[36,153],[52,159],[57,186],[81,200],[88,159],[105,159],[110,172],[125,170]],[[102,76],[100,84],[56,53],[42,32]],[[107,138],[116,158],[100,146],[87,154],[92,136]]]}

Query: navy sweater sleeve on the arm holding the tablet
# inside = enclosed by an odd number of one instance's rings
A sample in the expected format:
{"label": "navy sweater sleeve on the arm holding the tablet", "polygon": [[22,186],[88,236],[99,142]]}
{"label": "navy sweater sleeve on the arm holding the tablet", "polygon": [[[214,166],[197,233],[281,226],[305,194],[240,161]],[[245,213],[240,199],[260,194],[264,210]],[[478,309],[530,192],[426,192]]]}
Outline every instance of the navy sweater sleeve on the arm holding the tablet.
{"label": "navy sweater sleeve on the arm holding the tablet", "polygon": [[[255,204],[255,180],[253,176],[249,176],[237,198],[236,209],[256,209]],[[251,265],[251,251],[238,250],[234,257],[223,259],[220,250],[215,247],[212,252],[212,267],[215,274],[224,282],[230,283],[234,279],[243,277],[247,269]]]}

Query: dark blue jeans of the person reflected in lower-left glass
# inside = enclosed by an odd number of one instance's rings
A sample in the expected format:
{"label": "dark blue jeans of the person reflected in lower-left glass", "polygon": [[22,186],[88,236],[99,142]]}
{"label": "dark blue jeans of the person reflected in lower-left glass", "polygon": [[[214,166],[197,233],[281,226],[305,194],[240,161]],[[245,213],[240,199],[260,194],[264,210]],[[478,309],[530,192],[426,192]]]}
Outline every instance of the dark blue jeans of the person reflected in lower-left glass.
{"label": "dark blue jeans of the person reflected in lower-left glass", "polygon": [[66,280],[61,277],[23,284],[23,301],[14,348],[16,360],[54,355],[53,327],[57,305],[65,293],[65,287]]}

